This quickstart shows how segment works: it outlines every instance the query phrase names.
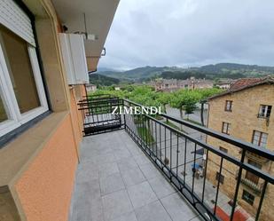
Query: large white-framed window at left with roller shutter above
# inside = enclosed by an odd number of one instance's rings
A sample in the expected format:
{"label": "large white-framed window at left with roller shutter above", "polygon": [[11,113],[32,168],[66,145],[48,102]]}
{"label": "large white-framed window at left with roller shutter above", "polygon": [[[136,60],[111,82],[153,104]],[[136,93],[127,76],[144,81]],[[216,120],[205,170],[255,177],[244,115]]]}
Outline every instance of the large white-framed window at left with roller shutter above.
{"label": "large white-framed window at left with roller shutter above", "polygon": [[[11,12],[21,11],[17,4],[11,5]],[[20,22],[31,27],[27,15],[20,13],[24,18]],[[26,38],[32,30],[21,32],[9,26],[0,18],[0,137],[48,110],[35,43]]]}

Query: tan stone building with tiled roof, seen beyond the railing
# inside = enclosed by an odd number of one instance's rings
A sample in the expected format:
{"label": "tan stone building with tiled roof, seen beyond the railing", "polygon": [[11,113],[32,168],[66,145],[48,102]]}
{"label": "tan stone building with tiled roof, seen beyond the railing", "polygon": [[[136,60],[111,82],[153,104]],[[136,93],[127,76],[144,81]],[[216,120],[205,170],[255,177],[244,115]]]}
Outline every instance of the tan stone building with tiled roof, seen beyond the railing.
{"label": "tan stone building with tiled roof, seen beyond the railing", "polygon": [[[208,99],[208,128],[232,137],[254,143],[258,148],[274,151],[274,79],[242,79],[231,85],[229,91]],[[207,143],[238,159],[241,149],[216,138]],[[207,179],[217,185],[221,158],[208,154]],[[273,162],[247,152],[245,161],[254,167],[274,173]],[[239,168],[223,161],[221,192],[233,199]],[[239,186],[238,205],[251,217],[255,216],[262,193],[262,178],[243,170]],[[268,185],[262,204],[260,220],[274,220],[274,186]]]}

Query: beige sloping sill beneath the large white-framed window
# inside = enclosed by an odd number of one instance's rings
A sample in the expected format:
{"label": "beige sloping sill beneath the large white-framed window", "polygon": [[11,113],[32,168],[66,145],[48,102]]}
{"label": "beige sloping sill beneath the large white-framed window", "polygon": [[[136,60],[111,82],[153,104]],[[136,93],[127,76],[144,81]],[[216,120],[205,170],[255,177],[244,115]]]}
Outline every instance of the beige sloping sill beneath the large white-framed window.
{"label": "beige sloping sill beneath the large white-framed window", "polygon": [[52,113],[0,149],[0,187],[9,185],[22,167],[51,138],[68,112]]}

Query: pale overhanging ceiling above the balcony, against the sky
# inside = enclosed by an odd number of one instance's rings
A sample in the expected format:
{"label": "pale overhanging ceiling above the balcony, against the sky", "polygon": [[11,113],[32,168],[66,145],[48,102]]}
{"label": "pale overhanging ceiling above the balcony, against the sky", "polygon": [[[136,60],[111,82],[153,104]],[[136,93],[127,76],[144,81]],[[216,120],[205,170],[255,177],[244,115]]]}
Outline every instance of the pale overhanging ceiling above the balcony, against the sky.
{"label": "pale overhanging ceiling above the balcony, against the sky", "polygon": [[95,70],[104,48],[106,36],[114,20],[114,13],[120,0],[52,0],[59,19],[66,25],[67,33],[85,32],[86,15],[87,32],[98,36],[98,40],[85,41],[89,70]]}

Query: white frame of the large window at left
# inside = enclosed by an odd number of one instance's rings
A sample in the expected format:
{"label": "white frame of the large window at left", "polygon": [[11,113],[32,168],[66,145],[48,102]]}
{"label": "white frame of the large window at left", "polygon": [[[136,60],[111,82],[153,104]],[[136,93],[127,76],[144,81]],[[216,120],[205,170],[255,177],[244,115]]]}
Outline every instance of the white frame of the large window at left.
{"label": "white frame of the large window at left", "polygon": [[18,106],[17,99],[13,91],[9,70],[4,58],[4,51],[0,43],[0,93],[2,95],[1,98],[3,99],[4,107],[6,107],[6,114],[9,116],[8,120],[0,123],[0,137],[20,127],[20,125],[29,122],[30,120],[34,119],[40,114],[43,114],[49,109],[43,88],[43,80],[35,47],[28,43],[27,49],[41,106],[29,110],[26,113],[20,113],[20,108]]}

